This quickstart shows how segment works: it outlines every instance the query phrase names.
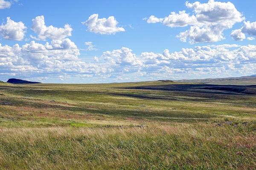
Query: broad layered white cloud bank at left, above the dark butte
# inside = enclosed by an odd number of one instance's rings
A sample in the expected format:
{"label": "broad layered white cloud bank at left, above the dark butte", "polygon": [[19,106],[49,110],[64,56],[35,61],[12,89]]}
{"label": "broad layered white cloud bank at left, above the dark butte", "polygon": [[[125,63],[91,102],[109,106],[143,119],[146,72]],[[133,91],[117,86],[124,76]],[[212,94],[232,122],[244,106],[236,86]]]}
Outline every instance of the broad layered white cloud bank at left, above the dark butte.
{"label": "broad layered white cloud bank at left, above the dark butte", "polygon": [[58,74],[103,74],[108,70],[100,64],[91,64],[79,59],[79,49],[69,39],[52,40],[46,44],[31,41],[13,47],[0,44],[0,73],[8,76],[32,75],[45,77]]}

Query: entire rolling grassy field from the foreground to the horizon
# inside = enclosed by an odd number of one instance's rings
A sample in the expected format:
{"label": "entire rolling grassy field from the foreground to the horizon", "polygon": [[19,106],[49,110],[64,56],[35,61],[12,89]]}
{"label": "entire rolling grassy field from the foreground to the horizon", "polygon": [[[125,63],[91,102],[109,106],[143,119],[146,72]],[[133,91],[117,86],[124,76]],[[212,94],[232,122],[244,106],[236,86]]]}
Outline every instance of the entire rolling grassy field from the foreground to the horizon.
{"label": "entire rolling grassy field from the foreground to the horizon", "polygon": [[256,86],[0,83],[0,170],[253,170]]}

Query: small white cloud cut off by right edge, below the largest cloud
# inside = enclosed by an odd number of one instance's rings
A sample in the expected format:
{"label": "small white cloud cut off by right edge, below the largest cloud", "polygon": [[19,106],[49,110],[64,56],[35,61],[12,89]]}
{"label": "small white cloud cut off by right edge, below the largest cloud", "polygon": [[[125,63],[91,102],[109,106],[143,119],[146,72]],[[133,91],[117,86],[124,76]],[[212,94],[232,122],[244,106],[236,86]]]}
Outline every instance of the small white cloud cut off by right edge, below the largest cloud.
{"label": "small white cloud cut off by right edge, below the largest cloud", "polygon": [[[244,21],[244,26],[240,29],[233,30],[230,35],[234,40],[244,40],[245,34],[256,36],[256,22]],[[254,40],[254,37],[248,37],[247,40]]]}

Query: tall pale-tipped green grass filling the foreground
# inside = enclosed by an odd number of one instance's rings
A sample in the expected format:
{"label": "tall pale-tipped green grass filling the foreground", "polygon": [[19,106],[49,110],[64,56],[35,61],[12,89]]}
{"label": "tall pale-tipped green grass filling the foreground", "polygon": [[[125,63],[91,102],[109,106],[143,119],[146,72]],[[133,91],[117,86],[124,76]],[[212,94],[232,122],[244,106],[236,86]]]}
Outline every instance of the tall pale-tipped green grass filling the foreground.
{"label": "tall pale-tipped green grass filling the foreground", "polygon": [[[237,154],[239,153],[239,154]],[[0,130],[0,169],[251,169],[253,124]]]}

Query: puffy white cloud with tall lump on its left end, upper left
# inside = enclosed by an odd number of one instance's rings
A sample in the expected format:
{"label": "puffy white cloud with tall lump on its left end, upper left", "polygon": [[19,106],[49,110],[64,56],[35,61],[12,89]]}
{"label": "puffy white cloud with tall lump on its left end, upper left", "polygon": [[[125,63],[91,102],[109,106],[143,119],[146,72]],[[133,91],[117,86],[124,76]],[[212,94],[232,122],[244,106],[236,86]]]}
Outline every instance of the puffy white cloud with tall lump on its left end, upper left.
{"label": "puffy white cloud with tall lump on its left end, upper left", "polygon": [[66,24],[64,28],[57,28],[54,26],[46,26],[44,22],[44,16],[38,16],[32,19],[32,28],[38,37],[30,36],[35,40],[46,40],[50,38],[52,40],[62,40],[68,36],[71,36],[72,28]]}

